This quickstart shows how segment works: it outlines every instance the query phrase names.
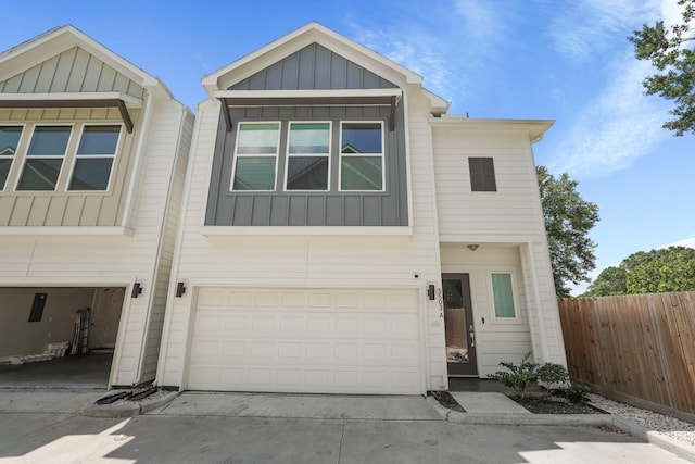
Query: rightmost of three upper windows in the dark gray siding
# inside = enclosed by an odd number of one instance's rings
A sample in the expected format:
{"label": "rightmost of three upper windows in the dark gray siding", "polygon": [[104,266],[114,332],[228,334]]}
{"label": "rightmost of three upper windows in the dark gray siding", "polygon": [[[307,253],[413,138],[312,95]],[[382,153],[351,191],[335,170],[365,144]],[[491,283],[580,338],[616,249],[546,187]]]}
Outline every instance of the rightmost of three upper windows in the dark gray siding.
{"label": "rightmost of three upper windows in the dark gray siding", "polygon": [[343,123],[340,190],[383,190],[383,125]]}

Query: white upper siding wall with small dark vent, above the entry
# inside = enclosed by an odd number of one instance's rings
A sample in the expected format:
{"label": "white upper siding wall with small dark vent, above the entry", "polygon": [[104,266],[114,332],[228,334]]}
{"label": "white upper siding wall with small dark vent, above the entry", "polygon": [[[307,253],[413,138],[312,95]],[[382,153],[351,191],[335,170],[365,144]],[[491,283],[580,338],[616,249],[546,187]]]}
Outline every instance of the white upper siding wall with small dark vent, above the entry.
{"label": "white upper siding wall with small dark vent, above the entry", "polygon": [[[464,125],[465,123],[462,123]],[[517,237],[542,233],[535,200],[538,180],[528,134],[480,133],[433,127],[434,168],[441,240]],[[468,158],[492,158],[497,191],[471,191]]]}

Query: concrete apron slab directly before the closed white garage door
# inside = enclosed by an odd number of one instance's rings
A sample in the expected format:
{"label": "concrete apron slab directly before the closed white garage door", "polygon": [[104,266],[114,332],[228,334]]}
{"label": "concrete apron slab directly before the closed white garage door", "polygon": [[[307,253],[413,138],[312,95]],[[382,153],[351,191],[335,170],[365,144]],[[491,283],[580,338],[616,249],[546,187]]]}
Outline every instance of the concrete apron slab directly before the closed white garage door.
{"label": "concrete apron slab directly before the closed white garage door", "polygon": [[184,392],[148,415],[442,421],[424,397]]}

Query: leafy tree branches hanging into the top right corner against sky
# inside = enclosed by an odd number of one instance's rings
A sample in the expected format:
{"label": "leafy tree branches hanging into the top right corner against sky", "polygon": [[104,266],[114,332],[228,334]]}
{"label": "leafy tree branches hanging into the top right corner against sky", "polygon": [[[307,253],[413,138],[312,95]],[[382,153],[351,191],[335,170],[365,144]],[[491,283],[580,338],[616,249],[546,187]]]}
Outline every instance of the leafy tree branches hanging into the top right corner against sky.
{"label": "leafy tree branches hanging into the top right corner against sky", "polygon": [[664,21],[653,26],[644,24],[642,30],[634,30],[629,40],[634,43],[637,60],[649,60],[657,73],[642,83],[646,95],[658,95],[673,100],[675,106],[670,113],[673,121],[664,128],[674,130],[677,136],[691,131],[695,134],[695,50],[692,49],[695,17],[695,0],[679,0],[682,21],[666,27]]}

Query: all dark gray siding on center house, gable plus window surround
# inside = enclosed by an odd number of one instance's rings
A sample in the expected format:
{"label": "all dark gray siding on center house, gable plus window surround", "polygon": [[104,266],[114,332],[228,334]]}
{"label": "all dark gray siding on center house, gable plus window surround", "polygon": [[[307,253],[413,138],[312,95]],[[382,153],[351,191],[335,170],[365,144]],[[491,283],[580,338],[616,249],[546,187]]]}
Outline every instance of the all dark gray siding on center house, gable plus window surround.
{"label": "all dark gray siding on center house, gable plus window surround", "polygon": [[[317,43],[287,57],[235,84],[233,90],[395,88],[393,84]],[[407,226],[407,174],[403,104],[396,108],[395,130],[389,131],[389,108],[290,106],[235,108],[232,130],[220,114],[205,225],[207,226]],[[330,190],[283,191],[289,121],[331,121]],[[276,190],[230,191],[238,123],[280,121]],[[338,135],[341,121],[384,122],[386,191],[338,191]]]}

